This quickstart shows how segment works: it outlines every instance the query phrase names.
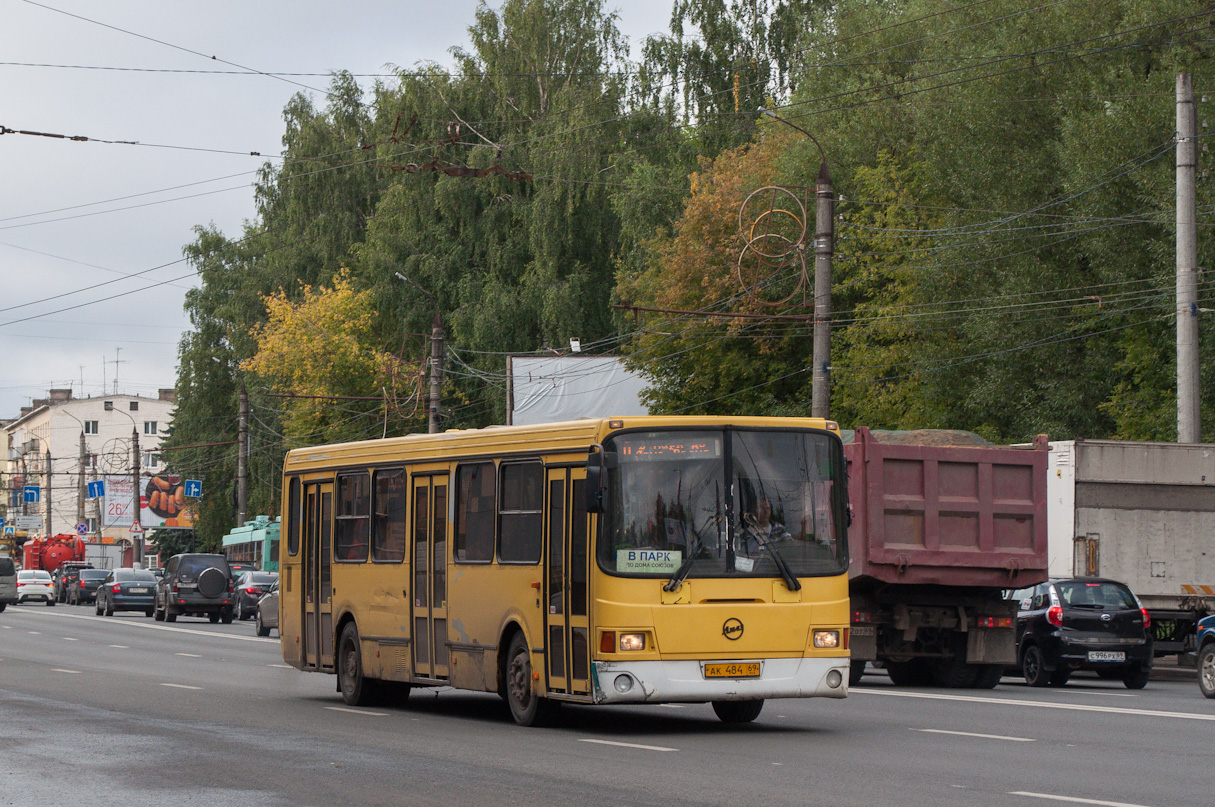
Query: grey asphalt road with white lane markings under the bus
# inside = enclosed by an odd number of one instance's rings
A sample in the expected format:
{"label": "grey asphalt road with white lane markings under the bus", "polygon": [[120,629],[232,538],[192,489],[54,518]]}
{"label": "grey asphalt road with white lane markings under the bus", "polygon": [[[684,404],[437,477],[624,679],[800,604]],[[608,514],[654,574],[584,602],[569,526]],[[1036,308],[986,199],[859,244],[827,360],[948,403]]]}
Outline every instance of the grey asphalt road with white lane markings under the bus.
{"label": "grey asphalt road with white lane markings under the bus", "polygon": [[1129,692],[895,688],[769,701],[567,707],[516,727],[495,695],[416,690],[347,709],[249,622],[91,608],[0,614],[0,806],[722,805],[1050,807],[1215,803],[1215,701]]}

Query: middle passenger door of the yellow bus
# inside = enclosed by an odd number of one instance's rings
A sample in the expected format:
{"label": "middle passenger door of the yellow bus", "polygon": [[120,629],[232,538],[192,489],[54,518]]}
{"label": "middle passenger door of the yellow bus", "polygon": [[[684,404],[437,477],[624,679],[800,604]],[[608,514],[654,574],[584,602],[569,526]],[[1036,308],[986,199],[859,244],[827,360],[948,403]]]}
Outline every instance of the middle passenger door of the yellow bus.
{"label": "middle passenger door of the yellow bus", "polygon": [[447,475],[413,478],[413,671],[447,678]]}

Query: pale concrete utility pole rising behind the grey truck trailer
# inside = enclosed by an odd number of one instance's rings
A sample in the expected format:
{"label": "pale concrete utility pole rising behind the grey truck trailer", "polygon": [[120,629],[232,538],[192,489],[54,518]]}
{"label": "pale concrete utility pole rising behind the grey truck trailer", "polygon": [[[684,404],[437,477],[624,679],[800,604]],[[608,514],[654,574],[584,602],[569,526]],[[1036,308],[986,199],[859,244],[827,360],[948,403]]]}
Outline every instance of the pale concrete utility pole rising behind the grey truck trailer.
{"label": "pale concrete utility pole rising behind the grey truck trailer", "polygon": [[1198,442],[1198,115],[1189,73],[1177,74],[1177,442]]}

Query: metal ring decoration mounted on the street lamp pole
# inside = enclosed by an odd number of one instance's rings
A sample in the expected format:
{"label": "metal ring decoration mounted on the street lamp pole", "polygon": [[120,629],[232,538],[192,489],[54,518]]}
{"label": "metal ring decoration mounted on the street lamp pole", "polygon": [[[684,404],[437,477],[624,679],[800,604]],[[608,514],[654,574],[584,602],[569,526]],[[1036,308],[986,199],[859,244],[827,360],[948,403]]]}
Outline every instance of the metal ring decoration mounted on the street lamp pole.
{"label": "metal ring decoration mounted on the street lamp pole", "polygon": [[806,204],[793,190],[807,192],[802,187],[769,185],[752,191],[739,208],[744,247],[735,273],[751,299],[765,307],[786,305],[798,293],[801,305],[807,305],[808,225]]}

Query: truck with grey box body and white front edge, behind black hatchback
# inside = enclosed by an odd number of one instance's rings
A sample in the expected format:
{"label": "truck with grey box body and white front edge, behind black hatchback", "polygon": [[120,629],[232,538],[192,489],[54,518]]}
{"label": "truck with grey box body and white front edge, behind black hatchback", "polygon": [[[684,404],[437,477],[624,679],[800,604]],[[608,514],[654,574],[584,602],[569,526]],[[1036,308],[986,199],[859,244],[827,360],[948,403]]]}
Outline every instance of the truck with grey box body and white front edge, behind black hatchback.
{"label": "truck with grey box body and white front edge, behind black hatchback", "polygon": [[1152,617],[1155,655],[1188,655],[1215,613],[1215,445],[1051,442],[1051,577],[1130,586]]}

